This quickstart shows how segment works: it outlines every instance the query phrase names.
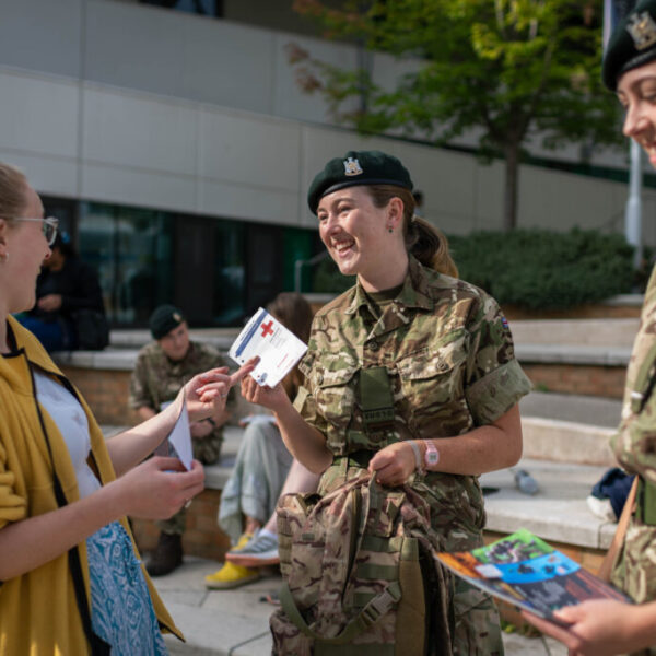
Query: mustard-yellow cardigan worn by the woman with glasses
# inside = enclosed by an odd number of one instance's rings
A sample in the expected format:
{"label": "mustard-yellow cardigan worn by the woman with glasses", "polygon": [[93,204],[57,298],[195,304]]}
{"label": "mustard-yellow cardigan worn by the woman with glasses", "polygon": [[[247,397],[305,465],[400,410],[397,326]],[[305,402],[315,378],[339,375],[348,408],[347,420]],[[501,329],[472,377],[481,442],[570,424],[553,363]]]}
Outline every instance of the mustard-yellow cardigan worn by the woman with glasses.
{"label": "mustard-yellow cardigan worn by the woman with glasses", "polygon": [[[11,522],[58,507],[51,460],[39,422],[30,367],[38,365],[57,376],[62,374],[30,331],[12,317],[9,325],[15,336],[17,353],[0,358],[0,529]],[[115,480],[116,475],[101,429],[80,395],[79,399],[89,419],[92,457],[105,484]],[[48,413],[43,411],[42,415],[63,493],[72,503],[80,496],[68,448]],[[131,537],[125,517],[121,524]],[[89,600],[85,542],[81,542],[78,549]],[[143,572],[162,630],[175,633],[181,640],[181,633],[164,608],[145,570]],[[67,553],[0,586],[2,656],[77,656],[86,653],[89,644],[75,602]]]}

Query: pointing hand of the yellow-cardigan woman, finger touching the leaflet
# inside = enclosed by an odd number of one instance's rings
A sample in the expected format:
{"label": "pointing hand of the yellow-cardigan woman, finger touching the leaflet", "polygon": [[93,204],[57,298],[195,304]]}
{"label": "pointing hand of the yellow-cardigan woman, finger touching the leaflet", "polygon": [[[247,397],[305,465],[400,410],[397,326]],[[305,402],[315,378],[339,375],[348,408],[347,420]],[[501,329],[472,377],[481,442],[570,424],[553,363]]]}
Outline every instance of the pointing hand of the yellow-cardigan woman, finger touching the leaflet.
{"label": "pointing hand of the yellow-cardigan woman, finger touching the leaflet", "polygon": [[257,361],[257,358],[249,360],[232,375],[227,373],[226,366],[222,366],[194,376],[180,389],[176,406],[181,402],[181,397],[185,395],[190,421],[200,421],[223,412],[230,388],[248,375],[255,368]]}

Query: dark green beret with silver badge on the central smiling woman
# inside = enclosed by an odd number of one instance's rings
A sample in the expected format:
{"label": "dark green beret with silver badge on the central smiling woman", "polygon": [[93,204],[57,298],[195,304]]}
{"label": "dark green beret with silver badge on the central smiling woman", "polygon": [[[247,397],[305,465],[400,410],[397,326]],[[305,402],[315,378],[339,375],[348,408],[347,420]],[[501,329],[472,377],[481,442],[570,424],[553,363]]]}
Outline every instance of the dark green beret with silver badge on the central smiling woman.
{"label": "dark green beret with silver badge on the central smiling woman", "polygon": [[307,191],[307,204],[317,213],[319,200],[344,187],[355,185],[394,185],[412,190],[408,169],[393,155],[380,151],[349,151],[330,160],[315,176]]}

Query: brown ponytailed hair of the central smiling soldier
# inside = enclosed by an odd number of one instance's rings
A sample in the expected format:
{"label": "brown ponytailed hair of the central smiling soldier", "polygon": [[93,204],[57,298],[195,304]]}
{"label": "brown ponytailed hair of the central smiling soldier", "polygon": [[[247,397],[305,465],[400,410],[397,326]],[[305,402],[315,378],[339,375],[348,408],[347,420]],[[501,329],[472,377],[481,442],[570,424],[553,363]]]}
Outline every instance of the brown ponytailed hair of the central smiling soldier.
{"label": "brown ponytailed hair of the central smiling soldier", "polygon": [[458,278],[458,267],[448,251],[446,235],[414,214],[415,201],[409,189],[394,185],[367,185],[365,189],[377,208],[384,208],[393,198],[399,198],[403,203],[403,237],[408,253],[424,267]]}

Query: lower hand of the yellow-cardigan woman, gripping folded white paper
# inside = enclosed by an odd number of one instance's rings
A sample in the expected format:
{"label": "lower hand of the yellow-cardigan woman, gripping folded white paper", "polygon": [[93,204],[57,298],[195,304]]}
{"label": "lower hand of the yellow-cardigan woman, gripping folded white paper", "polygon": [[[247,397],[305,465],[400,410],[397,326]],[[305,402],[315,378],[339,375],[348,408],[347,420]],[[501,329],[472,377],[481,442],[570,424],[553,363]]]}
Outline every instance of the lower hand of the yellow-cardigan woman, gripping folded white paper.
{"label": "lower hand of the yellow-cardigan woman, gripping folded white paper", "polygon": [[155,456],[110,485],[121,488],[124,513],[141,519],[168,519],[202,492],[204,471],[198,460],[187,471],[177,458]]}

